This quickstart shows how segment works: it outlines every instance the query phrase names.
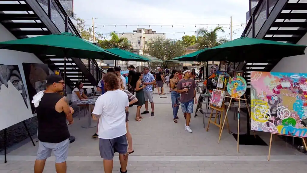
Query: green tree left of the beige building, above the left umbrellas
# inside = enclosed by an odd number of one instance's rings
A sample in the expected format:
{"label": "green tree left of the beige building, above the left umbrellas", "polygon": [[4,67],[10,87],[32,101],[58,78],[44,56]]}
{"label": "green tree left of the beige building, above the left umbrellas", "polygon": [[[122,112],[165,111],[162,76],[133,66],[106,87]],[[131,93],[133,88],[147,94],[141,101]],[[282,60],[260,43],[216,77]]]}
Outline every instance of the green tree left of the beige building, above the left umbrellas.
{"label": "green tree left of the beige building, above the left umbrellas", "polygon": [[98,43],[100,46],[104,49],[110,49],[113,47],[118,47],[123,50],[133,50],[132,45],[128,42],[128,38],[122,37],[119,38],[119,36],[115,32],[111,32],[110,34],[111,39],[110,40],[98,40]]}

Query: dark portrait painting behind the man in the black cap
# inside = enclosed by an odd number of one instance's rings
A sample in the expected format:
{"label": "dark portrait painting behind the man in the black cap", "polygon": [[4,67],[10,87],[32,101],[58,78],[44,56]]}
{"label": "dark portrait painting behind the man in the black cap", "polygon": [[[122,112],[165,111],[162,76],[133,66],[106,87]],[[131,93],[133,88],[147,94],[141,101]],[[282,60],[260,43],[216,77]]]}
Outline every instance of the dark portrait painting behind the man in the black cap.
{"label": "dark portrait painting behind the man in the black cap", "polygon": [[[25,82],[27,84],[30,102],[33,96],[39,91],[45,90],[45,80],[49,75],[49,68],[47,64],[38,63],[22,63],[25,72]],[[31,103],[32,113],[35,113],[34,104]]]}

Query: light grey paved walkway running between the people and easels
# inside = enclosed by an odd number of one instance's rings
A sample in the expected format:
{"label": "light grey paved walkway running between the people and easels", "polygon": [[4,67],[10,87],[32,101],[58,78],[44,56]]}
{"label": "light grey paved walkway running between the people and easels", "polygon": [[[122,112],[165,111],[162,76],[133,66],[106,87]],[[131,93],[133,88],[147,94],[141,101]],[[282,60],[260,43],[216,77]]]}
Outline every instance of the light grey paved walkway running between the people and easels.
{"label": "light grey paved walkway running between the people and easels", "polygon": [[[306,155],[276,138],[273,141],[271,161],[266,161],[268,146],[240,145],[240,152],[236,151],[237,142],[227,130],[218,141],[218,127],[210,125],[209,131],[203,128],[203,117],[191,118],[191,129],[188,133],[184,129],[184,118],[181,109],[178,112],[178,123],[172,119],[170,94],[168,98],[154,95],[155,116],[145,115],[142,122],[134,121],[136,107],[130,107],[129,127],[133,137],[134,153],[129,157],[131,172],[139,173],[174,173],[174,172],[249,172],[249,173],[282,173],[305,172],[307,170]],[[196,105],[195,105],[196,108]],[[142,107],[143,111],[145,108]],[[150,110],[150,107],[149,107]],[[229,114],[230,127],[237,128],[233,113]],[[246,118],[241,116],[241,130],[246,131]],[[76,141],[70,145],[68,157],[69,172],[103,172],[102,159],[99,157],[98,140],[92,139],[95,128],[84,129],[81,125],[87,123],[87,117],[81,117],[69,127],[71,135]],[[95,123],[95,122],[93,122]],[[206,126],[208,119],[206,121]],[[266,143],[269,134],[257,132]],[[0,163],[0,173],[33,172],[33,161],[37,146],[31,142],[13,147],[8,153],[8,163]],[[3,157],[0,156],[3,160]],[[115,156],[114,160],[118,160]],[[115,171],[118,172],[119,163],[115,161]],[[54,158],[48,160],[44,172],[55,172]]]}

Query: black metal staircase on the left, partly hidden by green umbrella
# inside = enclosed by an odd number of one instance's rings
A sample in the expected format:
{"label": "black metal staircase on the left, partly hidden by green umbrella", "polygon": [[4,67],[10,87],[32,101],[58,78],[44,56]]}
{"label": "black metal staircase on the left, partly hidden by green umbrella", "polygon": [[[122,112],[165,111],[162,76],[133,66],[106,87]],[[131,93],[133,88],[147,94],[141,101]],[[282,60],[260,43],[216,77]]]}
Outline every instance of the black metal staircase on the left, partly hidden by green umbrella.
{"label": "black metal staircase on the left, partly hidden by green umbrella", "polygon": [[[70,10],[64,9],[60,0],[0,0],[0,22],[17,39],[62,32],[80,36],[66,11]],[[59,69],[64,77],[64,57],[36,56],[51,70]],[[87,66],[81,58],[70,58],[66,62],[69,87],[77,81],[82,81],[86,87],[97,85],[101,74],[95,60],[89,60]]]}

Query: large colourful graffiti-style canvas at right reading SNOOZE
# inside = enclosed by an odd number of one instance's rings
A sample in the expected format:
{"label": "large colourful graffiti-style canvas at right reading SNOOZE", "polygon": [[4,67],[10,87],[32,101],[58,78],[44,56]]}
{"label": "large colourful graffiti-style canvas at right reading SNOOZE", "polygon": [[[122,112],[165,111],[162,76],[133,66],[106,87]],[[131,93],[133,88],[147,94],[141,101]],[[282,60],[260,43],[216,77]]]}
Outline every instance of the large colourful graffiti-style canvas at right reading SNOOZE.
{"label": "large colourful graffiti-style canvas at right reading SNOOZE", "polygon": [[307,74],[252,71],[251,129],[307,137]]}

